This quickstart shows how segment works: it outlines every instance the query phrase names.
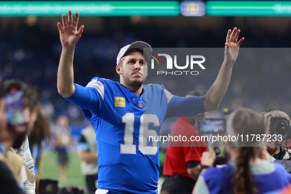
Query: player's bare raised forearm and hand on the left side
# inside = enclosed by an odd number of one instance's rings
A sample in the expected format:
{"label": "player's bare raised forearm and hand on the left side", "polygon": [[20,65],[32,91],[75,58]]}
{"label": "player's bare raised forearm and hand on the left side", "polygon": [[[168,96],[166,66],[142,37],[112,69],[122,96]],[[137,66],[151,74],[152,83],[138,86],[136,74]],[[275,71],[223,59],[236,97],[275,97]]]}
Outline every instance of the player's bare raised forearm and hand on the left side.
{"label": "player's bare raised forearm and hand on the left side", "polygon": [[74,71],[73,71],[73,57],[75,46],[80,39],[84,26],[78,30],[79,13],[76,12],[73,20],[72,11],[68,11],[68,22],[66,21],[65,14],[62,15],[63,26],[58,23],[60,30],[60,39],[62,42],[63,50],[61,54],[59,69],[58,69],[58,92],[63,97],[70,97],[75,92]]}

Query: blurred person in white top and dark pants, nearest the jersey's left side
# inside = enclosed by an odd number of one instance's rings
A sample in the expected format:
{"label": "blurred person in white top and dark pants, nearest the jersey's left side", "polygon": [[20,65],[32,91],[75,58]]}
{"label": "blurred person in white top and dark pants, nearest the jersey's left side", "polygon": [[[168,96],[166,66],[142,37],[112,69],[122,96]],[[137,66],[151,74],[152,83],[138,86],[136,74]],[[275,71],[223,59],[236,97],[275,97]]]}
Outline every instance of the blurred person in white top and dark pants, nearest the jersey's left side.
{"label": "blurred person in white top and dark pants, nearest the jersey's left side", "polygon": [[86,177],[88,192],[95,194],[98,181],[98,152],[95,129],[92,125],[81,131],[78,156],[81,161],[82,174]]}

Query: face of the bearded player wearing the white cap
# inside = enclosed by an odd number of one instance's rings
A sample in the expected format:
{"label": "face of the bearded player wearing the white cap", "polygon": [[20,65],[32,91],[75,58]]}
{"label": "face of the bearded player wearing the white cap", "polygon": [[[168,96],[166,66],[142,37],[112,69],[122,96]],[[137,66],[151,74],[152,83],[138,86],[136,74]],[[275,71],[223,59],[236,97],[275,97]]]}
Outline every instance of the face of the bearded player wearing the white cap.
{"label": "face of the bearded player wearing the white cap", "polygon": [[122,65],[116,66],[117,73],[121,75],[120,83],[125,86],[141,87],[148,72],[143,52],[139,49],[132,49],[122,60]]}

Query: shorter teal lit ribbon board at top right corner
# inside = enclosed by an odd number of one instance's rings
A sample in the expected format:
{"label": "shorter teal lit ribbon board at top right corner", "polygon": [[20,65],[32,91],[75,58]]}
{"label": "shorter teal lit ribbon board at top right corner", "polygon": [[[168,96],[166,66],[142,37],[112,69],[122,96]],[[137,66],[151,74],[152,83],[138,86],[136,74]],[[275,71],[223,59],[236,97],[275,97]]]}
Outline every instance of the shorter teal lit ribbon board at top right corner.
{"label": "shorter teal lit ribbon board at top right corner", "polygon": [[291,16],[291,1],[207,1],[210,16]]}

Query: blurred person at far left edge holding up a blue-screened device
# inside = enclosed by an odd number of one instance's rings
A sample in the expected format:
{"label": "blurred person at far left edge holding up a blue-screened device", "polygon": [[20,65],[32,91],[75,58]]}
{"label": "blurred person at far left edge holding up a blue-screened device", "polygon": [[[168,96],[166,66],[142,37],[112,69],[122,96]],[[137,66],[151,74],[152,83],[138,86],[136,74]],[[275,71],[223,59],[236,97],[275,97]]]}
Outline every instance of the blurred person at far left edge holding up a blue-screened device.
{"label": "blurred person at far left edge holding up a blue-screened device", "polygon": [[[36,120],[36,92],[17,80],[0,83],[0,191],[1,194],[23,194],[18,186],[19,171],[23,160],[10,163],[10,147],[18,149]],[[12,153],[12,152],[11,152]],[[12,153],[13,154],[13,153]]]}

